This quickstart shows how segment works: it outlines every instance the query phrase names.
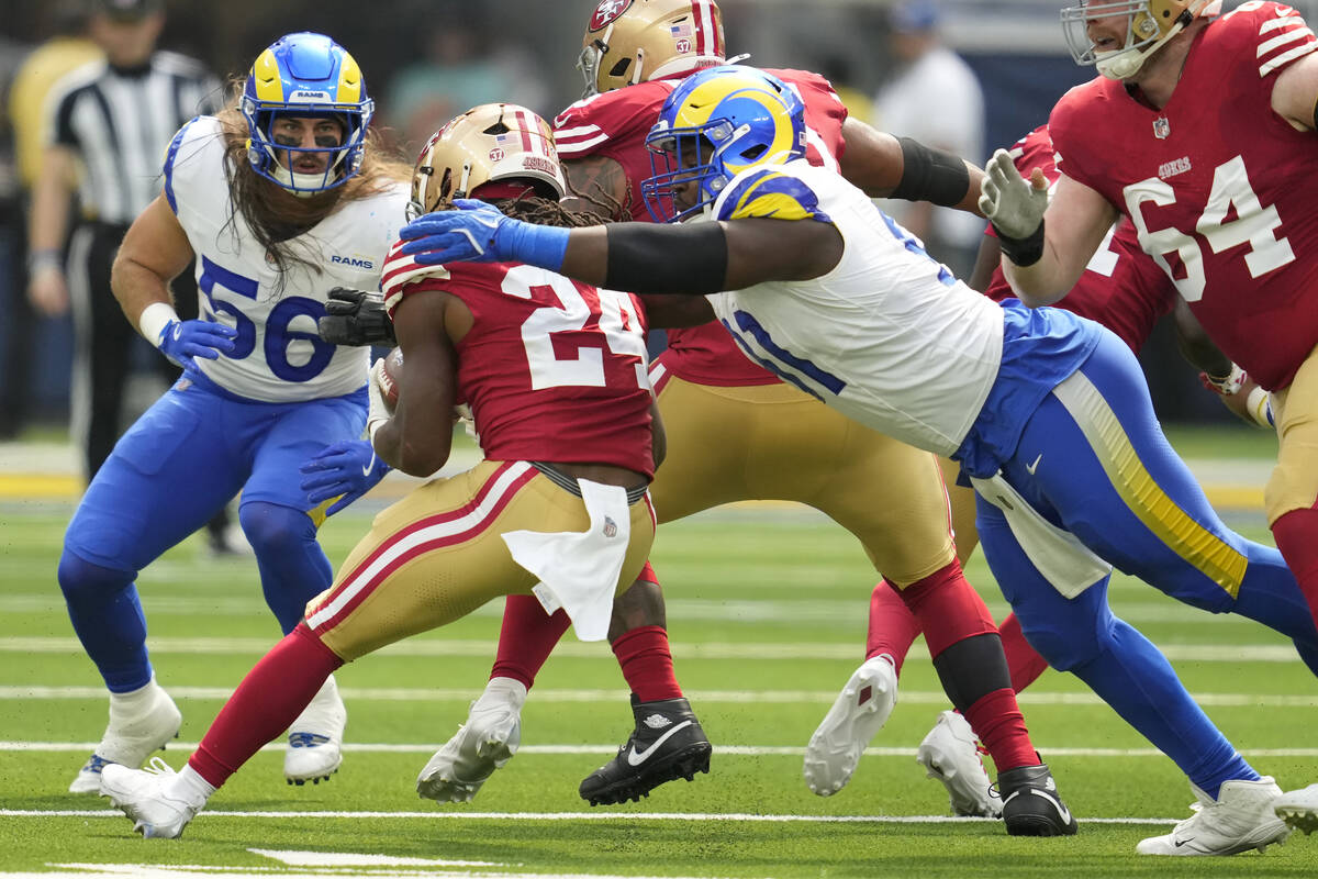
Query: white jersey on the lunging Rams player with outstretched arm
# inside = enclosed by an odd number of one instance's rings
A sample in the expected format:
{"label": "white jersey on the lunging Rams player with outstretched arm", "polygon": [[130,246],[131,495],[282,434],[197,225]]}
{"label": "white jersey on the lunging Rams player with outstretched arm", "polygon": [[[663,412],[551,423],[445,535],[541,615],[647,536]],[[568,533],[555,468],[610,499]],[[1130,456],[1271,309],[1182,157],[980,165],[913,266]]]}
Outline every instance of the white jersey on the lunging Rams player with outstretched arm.
{"label": "white jersey on the lunging Rams player with outstretched arm", "polygon": [[830,221],[841,261],[809,281],[709,297],[751,360],[845,415],[949,456],[1002,360],[998,303],[952,277],[836,171],[805,161],[743,171],[712,217]]}

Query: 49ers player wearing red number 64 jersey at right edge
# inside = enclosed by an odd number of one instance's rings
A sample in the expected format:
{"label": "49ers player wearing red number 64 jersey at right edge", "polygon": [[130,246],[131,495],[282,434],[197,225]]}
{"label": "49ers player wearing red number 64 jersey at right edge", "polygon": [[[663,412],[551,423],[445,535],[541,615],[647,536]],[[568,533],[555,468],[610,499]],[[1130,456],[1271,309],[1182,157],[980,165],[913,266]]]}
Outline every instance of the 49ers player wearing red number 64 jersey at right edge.
{"label": "49ers player wearing red number 64 jersey at right edge", "polygon": [[[995,156],[986,210],[1007,279],[1028,304],[1061,295],[1124,215],[1240,365],[1232,383],[1243,373],[1271,391],[1280,447],[1264,505],[1318,619],[1318,183],[1307,159],[1318,127],[1318,41],[1290,7],[1246,3],[1226,16],[1218,7],[1130,0],[1064,11],[1077,63],[1103,75],[1052,112],[1061,171],[1052,204],[1041,175],[1027,182]],[[1277,809],[1318,828],[1318,787],[1288,795]],[[1169,850],[1201,832],[1177,829],[1151,845]],[[1202,834],[1186,842],[1198,845]]]}

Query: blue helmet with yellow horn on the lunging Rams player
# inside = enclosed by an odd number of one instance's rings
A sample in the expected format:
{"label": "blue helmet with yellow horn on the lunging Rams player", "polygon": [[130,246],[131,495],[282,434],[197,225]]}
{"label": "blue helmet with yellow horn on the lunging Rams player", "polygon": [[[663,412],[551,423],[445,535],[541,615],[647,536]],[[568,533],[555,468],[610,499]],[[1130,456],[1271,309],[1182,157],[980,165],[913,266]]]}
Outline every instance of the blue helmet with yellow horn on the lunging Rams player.
{"label": "blue helmet with yellow horn on the lunging Rams player", "polygon": [[[805,104],[782,79],[755,67],[701,70],[664,100],[646,148],[646,208],[659,223],[684,220],[712,204],[741,171],[803,158]],[[696,181],[696,203],[679,210],[673,191]]]}

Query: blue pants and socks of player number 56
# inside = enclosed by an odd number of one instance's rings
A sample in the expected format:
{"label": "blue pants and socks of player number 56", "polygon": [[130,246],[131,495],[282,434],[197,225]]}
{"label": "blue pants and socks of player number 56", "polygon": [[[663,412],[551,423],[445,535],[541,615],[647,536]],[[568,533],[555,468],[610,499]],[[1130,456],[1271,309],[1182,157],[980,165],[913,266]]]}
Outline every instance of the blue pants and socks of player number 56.
{"label": "blue pants and socks of player number 56", "polygon": [[285,633],[297,626],[332,576],[298,467],[360,436],[364,420],[356,397],[250,403],[181,382],[129,428],[69,525],[58,572],[74,630],[111,691],[152,676],[137,572],[239,490],[266,604]]}

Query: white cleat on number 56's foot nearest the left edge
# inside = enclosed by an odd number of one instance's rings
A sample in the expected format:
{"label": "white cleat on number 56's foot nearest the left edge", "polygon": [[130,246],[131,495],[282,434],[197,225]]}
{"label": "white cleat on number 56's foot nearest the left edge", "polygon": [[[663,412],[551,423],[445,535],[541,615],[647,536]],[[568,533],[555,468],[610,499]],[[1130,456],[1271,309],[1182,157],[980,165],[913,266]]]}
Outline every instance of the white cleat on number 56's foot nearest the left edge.
{"label": "white cleat on number 56's foot nearest the left edge", "polygon": [[133,693],[112,696],[105,734],[87,763],[78,770],[69,792],[100,793],[100,775],[105,766],[119,763],[136,770],[152,751],[178,738],[182,725],[183,714],[154,677]]}

